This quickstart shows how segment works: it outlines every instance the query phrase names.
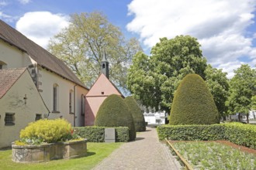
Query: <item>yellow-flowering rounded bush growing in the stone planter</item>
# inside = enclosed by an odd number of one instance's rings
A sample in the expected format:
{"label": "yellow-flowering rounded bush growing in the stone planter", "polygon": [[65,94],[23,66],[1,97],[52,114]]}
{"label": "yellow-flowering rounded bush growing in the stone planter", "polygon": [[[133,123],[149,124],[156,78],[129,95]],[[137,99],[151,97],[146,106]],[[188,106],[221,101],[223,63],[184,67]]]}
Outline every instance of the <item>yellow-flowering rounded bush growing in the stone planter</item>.
{"label": "yellow-flowering rounded bush growing in the stone planter", "polygon": [[42,142],[66,141],[72,138],[72,128],[64,119],[41,119],[29,123],[25,129],[22,129],[20,138],[23,142],[35,145]]}

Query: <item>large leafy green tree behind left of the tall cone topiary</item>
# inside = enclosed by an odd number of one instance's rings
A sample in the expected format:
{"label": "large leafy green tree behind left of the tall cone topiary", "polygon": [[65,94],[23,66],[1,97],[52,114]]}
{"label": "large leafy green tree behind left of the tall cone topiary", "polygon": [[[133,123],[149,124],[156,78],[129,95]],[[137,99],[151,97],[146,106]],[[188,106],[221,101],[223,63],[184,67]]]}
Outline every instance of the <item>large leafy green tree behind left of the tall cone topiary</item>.
{"label": "large leafy green tree behind left of the tall cone topiary", "polygon": [[151,49],[151,56],[137,53],[128,70],[128,89],[135,99],[146,107],[170,112],[175,90],[188,73],[197,73],[203,78],[206,58],[200,44],[192,36],[162,38]]}

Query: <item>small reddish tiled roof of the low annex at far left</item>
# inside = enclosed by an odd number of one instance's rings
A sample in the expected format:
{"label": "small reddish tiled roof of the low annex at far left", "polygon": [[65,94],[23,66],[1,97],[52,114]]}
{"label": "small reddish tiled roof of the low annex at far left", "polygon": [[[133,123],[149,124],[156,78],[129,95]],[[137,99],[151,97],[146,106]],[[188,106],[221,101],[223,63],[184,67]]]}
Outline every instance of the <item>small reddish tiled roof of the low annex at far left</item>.
{"label": "small reddish tiled roof of the low annex at far left", "polygon": [[5,96],[5,93],[16,83],[25,70],[26,68],[0,70],[0,99]]}

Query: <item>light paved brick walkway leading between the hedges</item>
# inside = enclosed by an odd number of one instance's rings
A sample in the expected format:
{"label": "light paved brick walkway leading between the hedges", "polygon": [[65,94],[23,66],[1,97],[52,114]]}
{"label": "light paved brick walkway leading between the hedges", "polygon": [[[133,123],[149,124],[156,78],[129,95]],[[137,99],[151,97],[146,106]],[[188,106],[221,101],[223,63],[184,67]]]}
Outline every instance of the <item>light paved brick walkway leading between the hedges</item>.
{"label": "light paved brick walkway leading between the hedges", "polygon": [[180,169],[181,165],[171,155],[167,145],[158,141],[155,128],[137,134],[136,141],[131,141],[113,151],[94,169]]}

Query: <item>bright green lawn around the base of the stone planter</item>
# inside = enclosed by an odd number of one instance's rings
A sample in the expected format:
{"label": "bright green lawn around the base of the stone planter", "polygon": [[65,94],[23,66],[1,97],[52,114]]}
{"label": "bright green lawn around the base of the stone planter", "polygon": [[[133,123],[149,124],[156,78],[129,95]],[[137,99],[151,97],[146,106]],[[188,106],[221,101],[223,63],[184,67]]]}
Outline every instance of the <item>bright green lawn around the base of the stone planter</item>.
{"label": "bright green lawn around the base of the stone planter", "polygon": [[88,155],[82,158],[74,158],[70,160],[56,160],[40,163],[16,163],[12,162],[12,150],[0,151],[0,169],[19,170],[19,169],[92,169],[99,164],[104,158],[112,153],[122,143],[89,143]]}

